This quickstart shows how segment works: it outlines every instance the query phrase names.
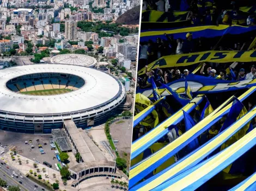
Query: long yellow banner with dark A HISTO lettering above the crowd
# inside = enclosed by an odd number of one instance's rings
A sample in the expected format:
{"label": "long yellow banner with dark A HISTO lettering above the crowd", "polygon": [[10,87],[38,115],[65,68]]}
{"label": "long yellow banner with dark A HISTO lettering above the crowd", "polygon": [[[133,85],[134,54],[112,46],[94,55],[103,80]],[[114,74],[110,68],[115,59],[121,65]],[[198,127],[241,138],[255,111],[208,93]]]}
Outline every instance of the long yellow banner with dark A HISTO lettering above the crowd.
{"label": "long yellow banner with dark A HISTO lettering above the crowd", "polygon": [[[190,54],[175,54],[163,56],[162,58],[150,63],[148,71],[151,69],[170,68],[179,66],[189,66],[199,62],[253,62],[256,61],[256,51],[206,51]],[[145,68],[138,71],[138,74],[144,74]]]}

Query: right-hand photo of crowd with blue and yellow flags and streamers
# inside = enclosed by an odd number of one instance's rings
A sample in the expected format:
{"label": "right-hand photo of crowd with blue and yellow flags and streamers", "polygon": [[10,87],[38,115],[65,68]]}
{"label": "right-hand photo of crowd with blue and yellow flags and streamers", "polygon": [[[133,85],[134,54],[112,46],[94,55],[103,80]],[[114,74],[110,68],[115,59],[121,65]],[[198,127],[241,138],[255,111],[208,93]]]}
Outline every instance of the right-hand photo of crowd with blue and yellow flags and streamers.
{"label": "right-hand photo of crowd with blue and yellow flags and streamers", "polygon": [[143,1],[129,190],[256,190],[253,1]]}

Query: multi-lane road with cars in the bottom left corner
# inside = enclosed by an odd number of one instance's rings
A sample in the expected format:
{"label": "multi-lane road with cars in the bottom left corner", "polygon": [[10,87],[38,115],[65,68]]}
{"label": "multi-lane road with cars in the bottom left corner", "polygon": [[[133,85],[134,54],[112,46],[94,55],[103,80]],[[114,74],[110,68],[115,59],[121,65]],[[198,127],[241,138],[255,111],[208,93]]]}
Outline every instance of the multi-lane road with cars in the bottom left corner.
{"label": "multi-lane road with cars in the bottom left corner", "polygon": [[[4,161],[0,160],[1,163],[3,163]],[[11,167],[9,164],[0,164],[1,168],[0,168],[0,177],[1,179],[4,179],[5,181],[7,181],[7,184],[10,186],[19,186],[21,188],[22,191],[26,190],[26,191],[31,191],[31,190],[42,190],[43,187],[41,187],[39,184],[36,184],[35,182],[31,181],[30,179],[28,179],[24,174],[22,174],[19,170],[17,170],[14,167]],[[9,167],[9,169],[7,168]],[[11,175],[13,174],[13,171],[15,171],[15,173],[17,175],[19,175],[19,173],[22,174],[23,179],[21,179],[21,177],[14,177],[12,178]],[[5,174],[5,177],[3,176]],[[22,182],[19,183],[19,181]],[[35,185],[38,186],[35,189]],[[45,188],[44,188],[45,189]],[[47,189],[45,189],[47,190]]]}

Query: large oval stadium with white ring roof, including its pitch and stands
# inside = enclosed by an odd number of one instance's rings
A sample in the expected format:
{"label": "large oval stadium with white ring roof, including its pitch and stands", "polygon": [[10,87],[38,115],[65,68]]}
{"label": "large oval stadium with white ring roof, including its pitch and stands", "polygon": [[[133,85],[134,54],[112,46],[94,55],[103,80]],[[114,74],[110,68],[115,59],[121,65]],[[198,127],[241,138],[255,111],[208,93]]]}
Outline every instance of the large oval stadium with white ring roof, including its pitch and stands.
{"label": "large oval stadium with white ring roof, including its pitch and stands", "polygon": [[8,130],[51,133],[66,119],[87,126],[88,119],[106,118],[126,95],[117,79],[88,67],[28,65],[3,69],[0,76],[0,126]]}

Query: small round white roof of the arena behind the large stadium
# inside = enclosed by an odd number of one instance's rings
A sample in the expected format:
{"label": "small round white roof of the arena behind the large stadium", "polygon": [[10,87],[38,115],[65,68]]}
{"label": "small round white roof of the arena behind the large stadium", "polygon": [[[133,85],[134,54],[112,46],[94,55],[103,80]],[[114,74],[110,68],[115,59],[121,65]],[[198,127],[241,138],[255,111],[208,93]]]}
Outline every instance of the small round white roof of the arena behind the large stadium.
{"label": "small round white roof of the arena behind the large stadium", "polygon": [[65,65],[94,66],[96,59],[84,54],[60,54],[51,58],[52,63],[63,63]]}

